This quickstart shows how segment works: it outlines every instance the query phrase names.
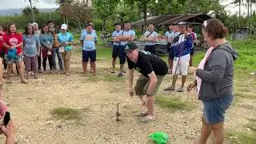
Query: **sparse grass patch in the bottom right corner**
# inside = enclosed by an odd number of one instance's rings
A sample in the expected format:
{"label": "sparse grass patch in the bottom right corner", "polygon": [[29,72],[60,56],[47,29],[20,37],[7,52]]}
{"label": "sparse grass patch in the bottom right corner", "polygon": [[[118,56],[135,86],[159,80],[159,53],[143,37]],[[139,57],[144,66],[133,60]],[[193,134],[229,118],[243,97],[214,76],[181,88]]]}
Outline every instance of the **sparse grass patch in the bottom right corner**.
{"label": "sparse grass patch in the bottom right corner", "polygon": [[230,132],[226,134],[226,139],[231,143],[239,144],[255,144],[256,133],[255,132]]}

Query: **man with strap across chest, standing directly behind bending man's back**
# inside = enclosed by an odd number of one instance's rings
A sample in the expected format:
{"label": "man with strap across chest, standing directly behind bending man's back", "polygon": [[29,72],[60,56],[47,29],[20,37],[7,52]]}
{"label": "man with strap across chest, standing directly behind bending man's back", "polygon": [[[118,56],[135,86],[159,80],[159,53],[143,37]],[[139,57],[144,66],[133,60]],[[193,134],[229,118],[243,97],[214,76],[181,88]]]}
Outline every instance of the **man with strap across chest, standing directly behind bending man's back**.
{"label": "man with strap across chest, standing directly behind bending man's back", "polygon": [[148,26],[148,30],[144,33],[144,39],[146,41],[145,51],[149,51],[155,54],[156,44],[158,42],[158,33],[154,31],[153,24]]}

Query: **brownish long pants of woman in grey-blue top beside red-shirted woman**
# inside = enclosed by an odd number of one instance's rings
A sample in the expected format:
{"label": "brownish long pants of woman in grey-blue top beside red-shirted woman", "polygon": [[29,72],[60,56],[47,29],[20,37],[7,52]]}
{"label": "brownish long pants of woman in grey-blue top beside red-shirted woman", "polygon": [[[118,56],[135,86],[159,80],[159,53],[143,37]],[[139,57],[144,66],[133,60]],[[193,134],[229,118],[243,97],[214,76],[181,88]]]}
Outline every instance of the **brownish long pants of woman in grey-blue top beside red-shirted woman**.
{"label": "brownish long pants of woman in grey-blue top beside red-shirted woman", "polygon": [[26,72],[34,71],[35,74],[38,73],[38,57],[27,57],[24,56],[25,70]]}

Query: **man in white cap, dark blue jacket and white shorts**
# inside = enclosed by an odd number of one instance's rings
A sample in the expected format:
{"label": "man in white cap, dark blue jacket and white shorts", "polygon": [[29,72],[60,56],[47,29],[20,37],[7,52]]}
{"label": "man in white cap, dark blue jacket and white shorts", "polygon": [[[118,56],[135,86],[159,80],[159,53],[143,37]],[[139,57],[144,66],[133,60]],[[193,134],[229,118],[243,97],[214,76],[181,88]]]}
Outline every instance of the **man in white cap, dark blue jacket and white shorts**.
{"label": "man in white cap, dark blue jacket and white shorts", "polygon": [[[186,22],[178,22],[178,29],[181,35],[177,37],[178,42],[174,44],[174,66],[173,66],[173,82],[170,87],[165,90],[175,90],[178,74],[182,73],[182,85],[178,88],[178,92],[183,92],[186,82],[187,70],[190,65],[190,49],[193,45],[191,35],[186,32]],[[175,40],[174,40],[175,41]]]}

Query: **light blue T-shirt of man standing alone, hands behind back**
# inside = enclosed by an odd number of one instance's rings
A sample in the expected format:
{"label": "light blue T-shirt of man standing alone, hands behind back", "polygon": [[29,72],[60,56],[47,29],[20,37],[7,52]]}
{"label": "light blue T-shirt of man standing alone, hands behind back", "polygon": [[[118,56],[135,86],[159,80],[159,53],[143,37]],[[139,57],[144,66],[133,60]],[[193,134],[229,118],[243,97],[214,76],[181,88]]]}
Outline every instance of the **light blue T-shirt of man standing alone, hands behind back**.
{"label": "light blue T-shirt of man standing alone, hands behind back", "polygon": [[82,50],[96,50],[95,41],[98,41],[96,33],[84,32],[82,33],[80,40],[83,41]]}

